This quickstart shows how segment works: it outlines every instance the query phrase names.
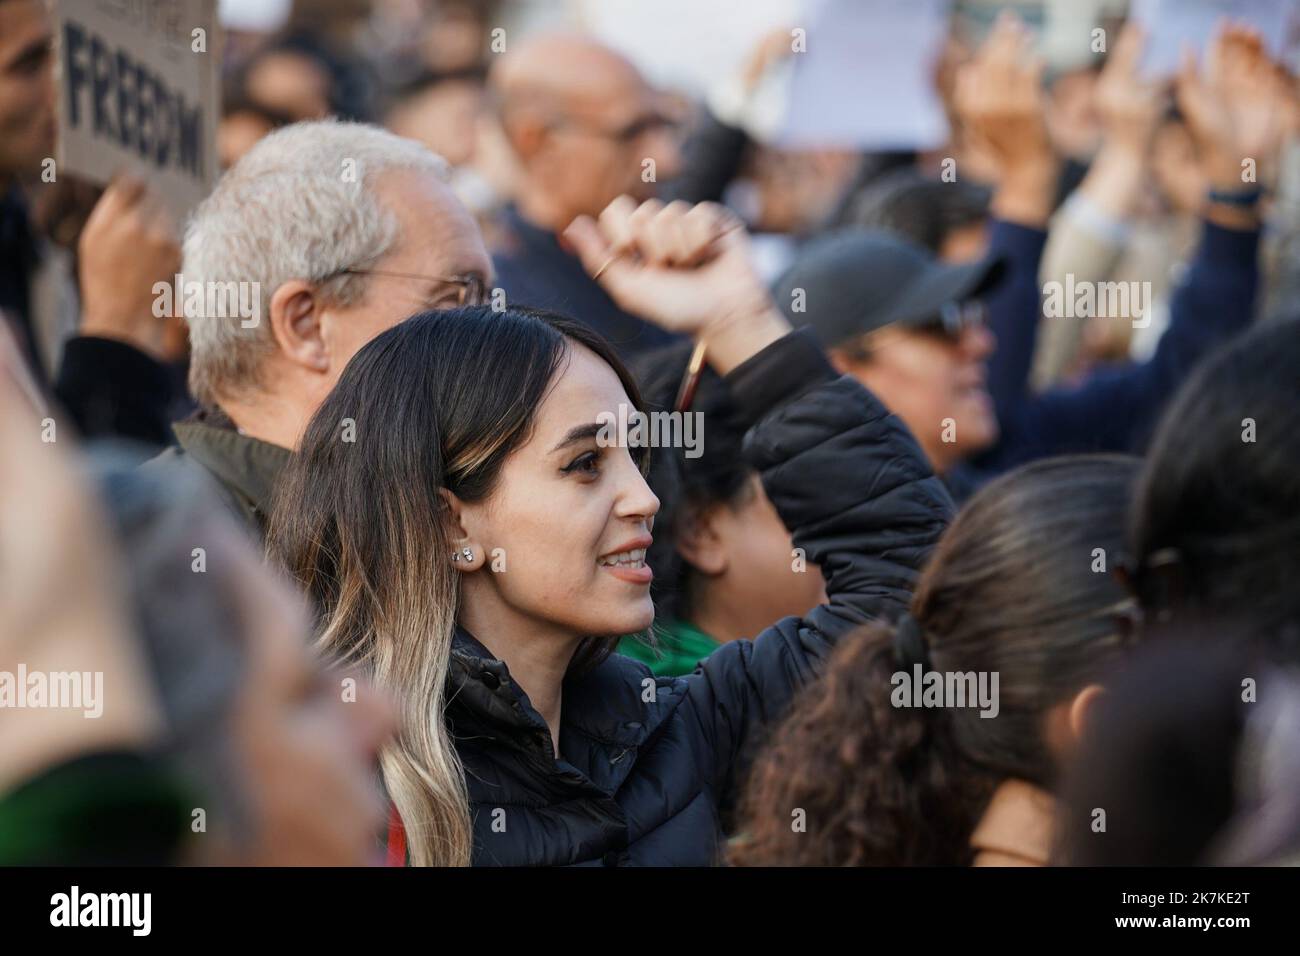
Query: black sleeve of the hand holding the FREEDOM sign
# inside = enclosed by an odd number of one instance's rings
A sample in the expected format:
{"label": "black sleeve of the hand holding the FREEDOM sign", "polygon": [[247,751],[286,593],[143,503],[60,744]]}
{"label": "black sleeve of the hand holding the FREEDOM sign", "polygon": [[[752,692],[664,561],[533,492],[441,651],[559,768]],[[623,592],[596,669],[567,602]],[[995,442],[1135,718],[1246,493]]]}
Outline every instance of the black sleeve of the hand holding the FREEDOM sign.
{"label": "black sleeve of the hand holding the FREEDOM sign", "polygon": [[129,438],[161,449],[172,441],[172,378],[159,362],[125,342],[70,338],[55,397],[86,438]]}

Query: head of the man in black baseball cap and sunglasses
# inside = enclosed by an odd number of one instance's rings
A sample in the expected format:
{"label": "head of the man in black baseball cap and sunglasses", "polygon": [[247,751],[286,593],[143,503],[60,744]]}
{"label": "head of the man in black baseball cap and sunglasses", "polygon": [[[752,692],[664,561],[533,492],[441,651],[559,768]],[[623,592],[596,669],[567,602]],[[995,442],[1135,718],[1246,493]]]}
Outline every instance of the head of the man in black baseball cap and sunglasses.
{"label": "head of the man in black baseball cap and sunglasses", "polygon": [[774,295],[792,323],[812,328],[836,368],[902,419],[944,475],[998,437],[982,298],[1002,274],[1000,259],[954,265],[889,233],[850,229],[810,243]]}

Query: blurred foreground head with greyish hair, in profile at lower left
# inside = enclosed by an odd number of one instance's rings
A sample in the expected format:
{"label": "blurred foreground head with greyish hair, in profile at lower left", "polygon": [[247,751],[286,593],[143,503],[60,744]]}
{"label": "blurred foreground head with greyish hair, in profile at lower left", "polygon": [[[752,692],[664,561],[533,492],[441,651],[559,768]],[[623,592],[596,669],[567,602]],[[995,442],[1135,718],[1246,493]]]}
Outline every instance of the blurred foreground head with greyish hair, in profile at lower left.
{"label": "blurred foreground head with greyish hair, in profile at lower left", "polygon": [[166,718],[164,753],[194,799],[182,860],[376,862],[387,700],[317,665],[300,598],[195,471],[112,458],[98,471]]}

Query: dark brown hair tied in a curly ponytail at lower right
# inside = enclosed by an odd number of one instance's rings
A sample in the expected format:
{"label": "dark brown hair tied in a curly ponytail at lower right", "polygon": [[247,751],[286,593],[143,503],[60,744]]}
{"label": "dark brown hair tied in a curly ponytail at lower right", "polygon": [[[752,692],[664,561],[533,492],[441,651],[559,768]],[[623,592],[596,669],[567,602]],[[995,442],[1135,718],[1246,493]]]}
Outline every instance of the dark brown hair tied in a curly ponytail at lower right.
{"label": "dark brown hair tied in a curly ponytail at lower right", "polygon": [[[1056,784],[1045,715],[1118,656],[1114,561],[1138,460],[1072,455],[984,486],[940,538],[910,615],[927,670],[998,674],[998,713],[896,708],[896,627],[846,636],[749,779],[731,861],[966,865],[996,787]],[[803,831],[794,814],[803,812]]]}

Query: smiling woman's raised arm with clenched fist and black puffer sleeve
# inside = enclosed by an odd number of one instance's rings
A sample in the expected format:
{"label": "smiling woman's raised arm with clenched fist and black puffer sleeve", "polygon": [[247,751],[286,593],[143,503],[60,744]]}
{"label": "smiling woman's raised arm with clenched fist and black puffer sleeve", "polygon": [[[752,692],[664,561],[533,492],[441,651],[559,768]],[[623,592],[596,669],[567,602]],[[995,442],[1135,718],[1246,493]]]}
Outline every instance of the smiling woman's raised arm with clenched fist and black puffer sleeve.
{"label": "smiling woman's raised arm with clenched fist and black puffer sleeve", "polygon": [[620,304],[706,345],[754,423],[745,455],[793,535],[792,572],[819,566],[826,578],[826,605],[724,645],[666,685],[692,708],[697,760],[725,806],[763,731],[835,643],[906,606],[952,501],[906,427],[790,332],[723,211],[620,202],[569,239]]}

